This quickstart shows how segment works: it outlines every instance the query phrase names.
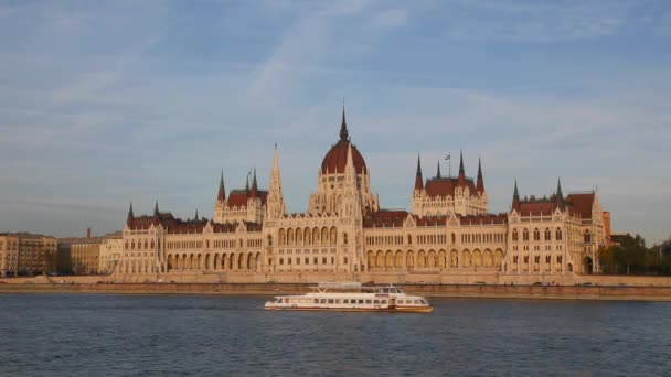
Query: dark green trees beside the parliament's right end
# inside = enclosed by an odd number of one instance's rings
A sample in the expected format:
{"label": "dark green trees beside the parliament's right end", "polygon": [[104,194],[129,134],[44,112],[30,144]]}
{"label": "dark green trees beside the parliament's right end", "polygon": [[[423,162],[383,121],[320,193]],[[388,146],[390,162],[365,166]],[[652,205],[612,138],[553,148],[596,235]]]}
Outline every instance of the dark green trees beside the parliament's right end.
{"label": "dark green trees beside the parliament's right end", "polygon": [[627,234],[599,251],[599,263],[605,274],[671,276],[671,238],[648,248],[641,236]]}

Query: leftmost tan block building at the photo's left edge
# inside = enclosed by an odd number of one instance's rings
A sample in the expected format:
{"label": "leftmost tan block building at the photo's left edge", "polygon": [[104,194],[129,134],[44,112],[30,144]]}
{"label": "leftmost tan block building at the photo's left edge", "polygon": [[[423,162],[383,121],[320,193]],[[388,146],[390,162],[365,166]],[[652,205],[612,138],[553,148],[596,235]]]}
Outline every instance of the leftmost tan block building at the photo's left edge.
{"label": "leftmost tan block building at the photo's left edge", "polygon": [[46,273],[55,267],[56,239],[30,233],[0,234],[0,276]]}

